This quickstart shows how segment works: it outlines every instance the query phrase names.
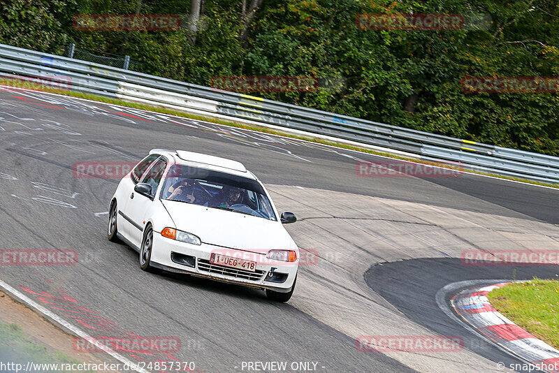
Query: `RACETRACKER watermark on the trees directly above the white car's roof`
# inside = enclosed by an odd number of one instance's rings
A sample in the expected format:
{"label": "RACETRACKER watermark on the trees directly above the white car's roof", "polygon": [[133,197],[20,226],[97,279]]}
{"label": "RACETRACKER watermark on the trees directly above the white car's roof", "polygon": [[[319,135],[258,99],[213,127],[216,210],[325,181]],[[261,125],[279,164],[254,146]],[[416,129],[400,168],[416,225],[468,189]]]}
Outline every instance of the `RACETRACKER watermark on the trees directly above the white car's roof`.
{"label": "RACETRACKER watermark on the trees directly above the white car's roof", "polygon": [[319,80],[310,76],[215,76],[210,87],[231,92],[316,92]]}

